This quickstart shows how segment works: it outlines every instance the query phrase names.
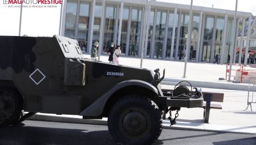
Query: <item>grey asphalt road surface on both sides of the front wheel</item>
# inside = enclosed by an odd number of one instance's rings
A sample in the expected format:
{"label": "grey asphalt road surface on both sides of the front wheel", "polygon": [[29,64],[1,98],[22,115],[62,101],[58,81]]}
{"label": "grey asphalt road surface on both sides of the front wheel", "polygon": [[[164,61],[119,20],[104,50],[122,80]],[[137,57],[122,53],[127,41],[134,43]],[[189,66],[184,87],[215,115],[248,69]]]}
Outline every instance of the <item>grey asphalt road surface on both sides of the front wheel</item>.
{"label": "grey asphalt road surface on both sides of the front wheel", "polygon": [[[1,145],[116,144],[107,126],[68,124],[46,121],[24,121],[19,125],[0,128]],[[163,129],[158,144],[191,145],[251,145],[256,136],[241,133],[217,133]]]}

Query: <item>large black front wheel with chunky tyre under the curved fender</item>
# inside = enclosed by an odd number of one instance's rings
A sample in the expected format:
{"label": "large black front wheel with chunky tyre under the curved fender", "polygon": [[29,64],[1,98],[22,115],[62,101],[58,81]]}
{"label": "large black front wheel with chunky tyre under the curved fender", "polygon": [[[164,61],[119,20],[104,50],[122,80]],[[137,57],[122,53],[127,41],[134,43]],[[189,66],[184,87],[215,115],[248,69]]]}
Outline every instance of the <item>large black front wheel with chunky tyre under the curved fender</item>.
{"label": "large black front wheel with chunky tyre under the curved fender", "polygon": [[162,132],[162,111],[146,97],[126,96],[109,113],[108,129],[118,143],[151,144]]}

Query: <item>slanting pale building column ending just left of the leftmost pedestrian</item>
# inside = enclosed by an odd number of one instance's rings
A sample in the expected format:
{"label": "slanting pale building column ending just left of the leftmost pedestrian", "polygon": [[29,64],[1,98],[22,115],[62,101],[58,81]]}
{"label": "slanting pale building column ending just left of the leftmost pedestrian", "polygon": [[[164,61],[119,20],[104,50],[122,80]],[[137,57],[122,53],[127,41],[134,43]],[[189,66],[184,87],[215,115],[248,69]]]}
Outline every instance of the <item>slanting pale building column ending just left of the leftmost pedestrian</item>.
{"label": "slanting pale building column ending just left of the leftmost pedestrian", "polygon": [[88,32],[88,42],[89,42],[87,43],[88,53],[91,53],[91,45],[93,45],[93,26],[94,26],[95,5],[96,5],[96,0],[93,0],[92,6],[91,6],[90,24],[89,24],[89,32]]}

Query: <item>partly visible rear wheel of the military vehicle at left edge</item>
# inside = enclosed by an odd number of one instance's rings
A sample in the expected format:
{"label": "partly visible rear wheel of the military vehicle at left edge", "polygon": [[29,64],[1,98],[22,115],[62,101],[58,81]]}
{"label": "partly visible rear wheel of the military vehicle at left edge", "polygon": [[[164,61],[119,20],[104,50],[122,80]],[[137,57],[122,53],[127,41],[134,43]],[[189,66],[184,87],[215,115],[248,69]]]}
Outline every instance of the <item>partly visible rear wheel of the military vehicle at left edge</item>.
{"label": "partly visible rear wheel of the military vehicle at left edge", "polygon": [[0,88],[0,125],[14,125],[22,117],[19,98],[12,90]]}

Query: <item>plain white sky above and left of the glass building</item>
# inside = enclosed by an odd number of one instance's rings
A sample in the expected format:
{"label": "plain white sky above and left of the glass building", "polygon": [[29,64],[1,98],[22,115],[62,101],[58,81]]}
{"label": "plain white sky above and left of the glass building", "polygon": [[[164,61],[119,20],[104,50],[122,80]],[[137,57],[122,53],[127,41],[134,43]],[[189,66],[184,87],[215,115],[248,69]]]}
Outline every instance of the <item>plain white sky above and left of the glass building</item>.
{"label": "plain white sky above and left of the glass building", "polygon": [[[5,4],[8,0],[0,0],[0,35],[19,35],[20,8],[8,8]],[[30,0],[33,1],[33,0]],[[190,5],[190,0],[158,0]],[[194,0],[193,5],[219,8],[235,9],[236,0]],[[33,4],[34,5],[34,4]],[[26,6],[33,6],[26,5]],[[19,5],[12,5],[19,6]],[[50,5],[34,5],[50,6]],[[31,37],[45,36],[52,37],[59,34],[59,20],[61,5],[56,8],[23,8],[21,35]],[[256,0],[239,0],[237,10],[251,12],[256,15]]]}

